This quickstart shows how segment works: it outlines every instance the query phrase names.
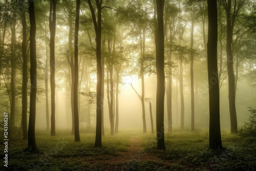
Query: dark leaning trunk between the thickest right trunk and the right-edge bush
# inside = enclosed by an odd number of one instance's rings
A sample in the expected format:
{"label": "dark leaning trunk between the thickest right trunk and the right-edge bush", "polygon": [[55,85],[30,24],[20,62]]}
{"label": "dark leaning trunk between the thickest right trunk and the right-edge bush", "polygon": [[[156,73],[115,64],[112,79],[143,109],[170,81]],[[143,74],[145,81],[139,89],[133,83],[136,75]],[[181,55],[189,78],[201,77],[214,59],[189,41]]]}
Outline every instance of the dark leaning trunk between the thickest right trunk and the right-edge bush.
{"label": "dark leaning trunk between the thickest right trunk and the right-edge bush", "polygon": [[228,102],[230,114],[231,133],[238,133],[237,111],[236,111],[236,90],[234,89],[235,78],[233,69],[232,38],[233,25],[231,24],[231,0],[228,0],[226,7],[227,15],[227,73],[228,73]]}

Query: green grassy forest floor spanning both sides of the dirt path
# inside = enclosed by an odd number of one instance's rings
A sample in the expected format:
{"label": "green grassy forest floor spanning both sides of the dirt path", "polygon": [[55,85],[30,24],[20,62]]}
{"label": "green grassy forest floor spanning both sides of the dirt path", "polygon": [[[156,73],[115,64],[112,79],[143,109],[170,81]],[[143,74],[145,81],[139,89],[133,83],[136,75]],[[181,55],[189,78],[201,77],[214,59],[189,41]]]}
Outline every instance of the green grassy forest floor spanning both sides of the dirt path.
{"label": "green grassy forest floor spanning both sides of the dirt path", "polygon": [[[207,131],[173,132],[165,135],[166,151],[156,150],[156,137],[137,131],[123,131],[102,137],[102,148],[94,148],[95,135],[82,132],[74,142],[69,132],[55,137],[37,131],[39,153],[24,151],[27,141],[9,140],[8,168],[0,170],[255,170],[256,139],[222,132],[224,150],[208,150]],[[144,158],[125,160],[131,136],[140,139]],[[4,146],[1,144],[1,149]],[[145,159],[157,156],[157,160]],[[3,156],[3,155],[2,155]],[[124,156],[121,160],[120,156]],[[3,159],[3,158],[2,158]],[[114,162],[114,161],[121,162]]]}

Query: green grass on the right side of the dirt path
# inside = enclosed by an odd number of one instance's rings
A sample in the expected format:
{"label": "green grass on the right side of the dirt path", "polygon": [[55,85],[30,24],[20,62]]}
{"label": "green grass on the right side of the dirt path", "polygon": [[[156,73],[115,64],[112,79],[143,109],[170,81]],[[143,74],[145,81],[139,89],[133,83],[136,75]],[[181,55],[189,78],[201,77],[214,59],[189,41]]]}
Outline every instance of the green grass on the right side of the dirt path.
{"label": "green grass on the right side of the dirt path", "polygon": [[166,151],[156,149],[155,136],[144,136],[146,152],[169,161],[172,170],[255,170],[256,138],[222,132],[223,150],[208,149],[208,133],[173,132],[165,135]]}

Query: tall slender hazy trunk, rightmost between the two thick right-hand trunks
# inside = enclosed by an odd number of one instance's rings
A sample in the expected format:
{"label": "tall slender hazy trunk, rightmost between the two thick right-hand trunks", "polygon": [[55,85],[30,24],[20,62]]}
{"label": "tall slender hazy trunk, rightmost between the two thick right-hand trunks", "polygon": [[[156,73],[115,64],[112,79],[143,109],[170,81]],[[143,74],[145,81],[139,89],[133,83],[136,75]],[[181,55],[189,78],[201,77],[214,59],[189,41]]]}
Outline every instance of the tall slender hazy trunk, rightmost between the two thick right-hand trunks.
{"label": "tall slender hazy trunk, rightmost between the two thick right-hand trunks", "polygon": [[[194,23],[195,23],[195,11],[192,12],[191,18],[191,40],[190,49],[193,49],[194,45]],[[190,87],[191,87],[191,131],[195,131],[195,92],[194,92],[194,55],[191,55],[190,62]]]}

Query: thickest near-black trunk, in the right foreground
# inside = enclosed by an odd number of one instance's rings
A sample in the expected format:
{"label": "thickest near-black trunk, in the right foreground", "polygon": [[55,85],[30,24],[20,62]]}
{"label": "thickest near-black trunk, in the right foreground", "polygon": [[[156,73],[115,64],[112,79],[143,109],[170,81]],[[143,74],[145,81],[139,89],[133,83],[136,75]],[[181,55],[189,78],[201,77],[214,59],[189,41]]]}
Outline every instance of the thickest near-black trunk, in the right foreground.
{"label": "thickest near-black trunk, in the right foreground", "polygon": [[220,129],[220,93],[218,79],[218,19],[217,0],[208,0],[208,84],[209,84],[209,148],[222,148]]}

